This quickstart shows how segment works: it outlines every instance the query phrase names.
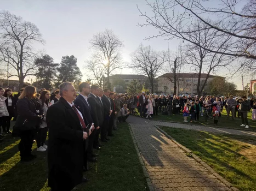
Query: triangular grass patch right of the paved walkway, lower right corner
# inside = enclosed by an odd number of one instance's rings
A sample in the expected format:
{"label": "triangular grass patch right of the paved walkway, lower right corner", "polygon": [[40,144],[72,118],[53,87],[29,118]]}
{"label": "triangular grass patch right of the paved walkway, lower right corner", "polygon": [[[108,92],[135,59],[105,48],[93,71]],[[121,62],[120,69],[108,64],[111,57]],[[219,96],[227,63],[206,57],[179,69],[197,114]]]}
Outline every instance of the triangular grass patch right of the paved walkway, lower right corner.
{"label": "triangular grass patch right of the paved walkway, lower right corner", "polygon": [[256,190],[256,138],[160,127],[240,190]]}

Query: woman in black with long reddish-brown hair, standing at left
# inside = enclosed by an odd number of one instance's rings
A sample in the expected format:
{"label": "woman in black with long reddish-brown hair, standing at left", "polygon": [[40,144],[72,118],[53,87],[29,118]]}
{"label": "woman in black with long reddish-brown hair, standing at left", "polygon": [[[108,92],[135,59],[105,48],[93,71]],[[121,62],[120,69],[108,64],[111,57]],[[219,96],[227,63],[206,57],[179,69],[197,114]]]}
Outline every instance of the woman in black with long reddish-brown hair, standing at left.
{"label": "woman in black with long reddish-brown hair, standing at left", "polygon": [[18,117],[15,126],[20,130],[20,160],[27,162],[36,158],[31,154],[36,128],[43,118],[41,104],[36,100],[36,88],[26,86],[17,102]]}

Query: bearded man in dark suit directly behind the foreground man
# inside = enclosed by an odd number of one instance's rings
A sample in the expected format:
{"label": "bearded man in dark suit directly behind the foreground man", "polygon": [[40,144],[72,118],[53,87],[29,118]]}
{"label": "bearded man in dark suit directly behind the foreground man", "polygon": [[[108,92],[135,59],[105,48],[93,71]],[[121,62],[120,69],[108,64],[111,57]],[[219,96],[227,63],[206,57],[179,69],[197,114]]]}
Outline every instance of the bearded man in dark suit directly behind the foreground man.
{"label": "bearded man in dark suit directly behind the foreground man", "polygon": [[[86,120],[89,122],[89,126],[93,126],[93,118],[90,114],[90,105],[88,103],[88,96],[90,94],[90,85],[88,82],[82,82],[79,84],[80,94],[75,100],[75,104],[79,106],[82,114],[86,116]],[[92,128],[92,134],[89,136],[89,142],[87,145],[84,145],[84,171],[89,170],[87,165],[87,158],[90,162],[96,162],[96,154],[93,153],[93,140],[94,140],[94,126]]]}

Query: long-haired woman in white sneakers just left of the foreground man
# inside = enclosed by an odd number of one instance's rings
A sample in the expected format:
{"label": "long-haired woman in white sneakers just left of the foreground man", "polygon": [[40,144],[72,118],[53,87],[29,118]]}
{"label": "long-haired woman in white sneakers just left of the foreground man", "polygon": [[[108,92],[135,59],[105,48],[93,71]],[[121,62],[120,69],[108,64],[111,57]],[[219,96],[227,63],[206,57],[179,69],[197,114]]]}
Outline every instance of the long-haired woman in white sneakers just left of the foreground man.
{"label": "long-haired woman in white sneakers just left of the foreground man", "polygon": [[36,143],[37,143],[37,151],[44,152],[47,150],[47,145],[45,145],[45,141],[47,138],[47,123],[46,123],[46,113],[50,105],[50,92],[47,90],[44,90],[41,92],[40,96],[40,103],[44,111],[44,117],[42,122],[39,125],[39,129],[36,136]]}

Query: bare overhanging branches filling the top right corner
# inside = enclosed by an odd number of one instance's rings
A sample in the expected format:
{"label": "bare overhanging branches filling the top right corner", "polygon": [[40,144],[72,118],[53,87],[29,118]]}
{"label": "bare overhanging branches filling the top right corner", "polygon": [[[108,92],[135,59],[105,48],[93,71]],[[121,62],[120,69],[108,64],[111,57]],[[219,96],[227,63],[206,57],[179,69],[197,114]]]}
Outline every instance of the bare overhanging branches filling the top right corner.
{"label": "bare overhanging branches filling the top right corner", "polygon": [[[152,15],[143,13],[138,8],[141,16],[146,19],[146,22],[139,26],[153,26],[158,29],[158,34],[152,35],[149,39],[178,38],[209,52],[248,58],[249,61],[244,64],[255,71],[256,67],[253,63],[256,59],[256,2],[248,0],[242,10],[240,9],[242,1],[218,2],[220,3],[216,3],[215,0],[155,0],[153,3],[146,1],[152,10]],[[214,4],[215,7],[209,6],[208,3]],[[194,28],[195,21],[204,23],[202,28],[196,29],[197,31],[212,29],[218,35],[221,44],[225,42],[225,46],[219,49],[218,46],[203,46],[191,40],[190,32],[191,28]]]}

